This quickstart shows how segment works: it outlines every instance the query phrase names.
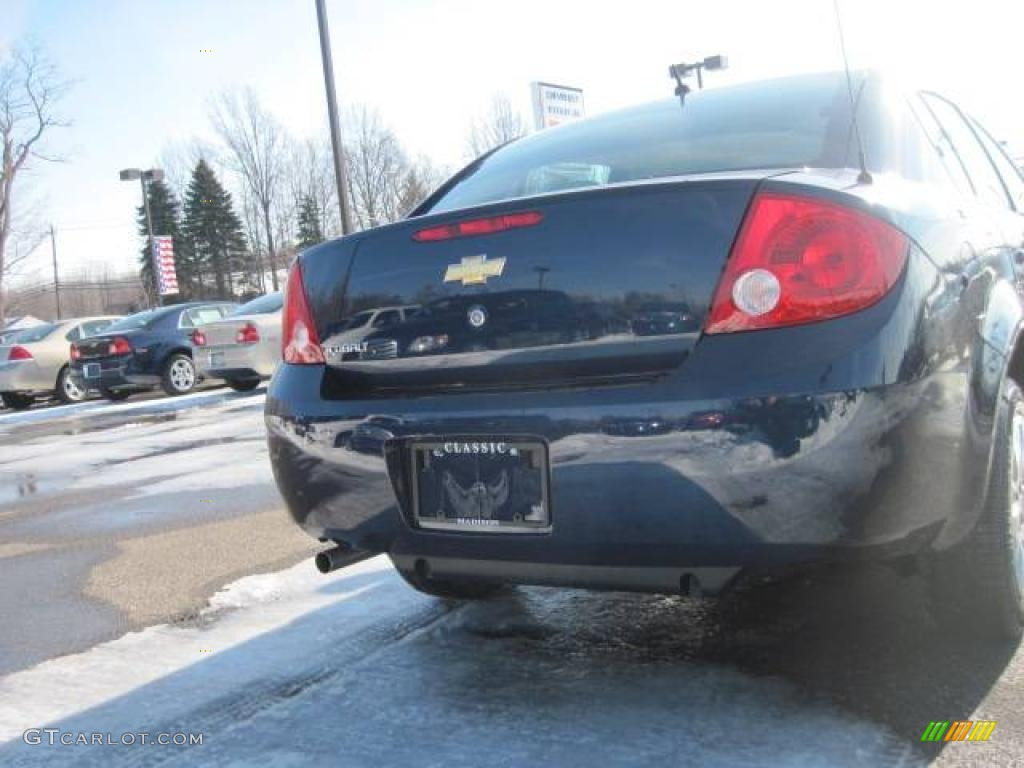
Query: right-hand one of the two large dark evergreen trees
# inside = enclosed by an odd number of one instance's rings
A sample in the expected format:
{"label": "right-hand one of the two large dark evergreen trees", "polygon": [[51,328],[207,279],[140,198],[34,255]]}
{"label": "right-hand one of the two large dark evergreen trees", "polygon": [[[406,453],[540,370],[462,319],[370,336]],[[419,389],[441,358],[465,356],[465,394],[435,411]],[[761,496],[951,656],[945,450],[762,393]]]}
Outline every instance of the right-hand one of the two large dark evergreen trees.
{"label": "right-hand one of the two large dark evergreen trees", "polygon": [[233,296],[233,275],[245,267],[246,240],[230,194],[205,160],[193,171],[184,209],[181,229],[199,285],[212,278],[218,298]]}

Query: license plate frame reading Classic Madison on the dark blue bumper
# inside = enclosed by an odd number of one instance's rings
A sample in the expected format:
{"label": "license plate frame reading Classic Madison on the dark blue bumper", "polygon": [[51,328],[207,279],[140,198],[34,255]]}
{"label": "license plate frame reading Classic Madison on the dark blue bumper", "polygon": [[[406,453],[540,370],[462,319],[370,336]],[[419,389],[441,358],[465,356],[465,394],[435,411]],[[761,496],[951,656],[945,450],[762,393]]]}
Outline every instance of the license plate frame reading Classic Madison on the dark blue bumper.
{"label": "license plate frame reading Classic Madison on the dark blue bumper", "polygon": [[[474,446],[485,446],[485,452],[474,453]],[[543,439],[431,437],[411,441],[409,451],[417,527],[481,535],[551,532],[551,464]]]}

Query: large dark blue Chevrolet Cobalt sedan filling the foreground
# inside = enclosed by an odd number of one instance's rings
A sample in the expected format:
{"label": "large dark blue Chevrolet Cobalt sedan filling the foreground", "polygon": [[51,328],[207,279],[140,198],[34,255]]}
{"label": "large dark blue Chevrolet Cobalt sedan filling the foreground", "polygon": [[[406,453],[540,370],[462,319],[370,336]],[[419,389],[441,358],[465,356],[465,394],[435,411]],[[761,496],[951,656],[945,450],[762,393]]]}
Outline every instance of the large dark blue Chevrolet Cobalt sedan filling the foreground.
{"label": "large dark blue Chevrolet Cobalt sedan filling the foreground", "polygon": [[[1024,180],[945,98],[872,73],[852,86],[708,89],[541,131],[409,219],[306,250],[266,402],[295,520],[450,597],[915,563],[943,622],[1019,635]],[[562,168],[574,188],[546,186]],[[376,297],[449,298],[479,333],[493,314],[474,307],[542,283],[608,317],[679,316],[468,354],[325,353]],[[417,322],[456,337],[455,318]],[[335,439],[370,420],[376,455]]]}

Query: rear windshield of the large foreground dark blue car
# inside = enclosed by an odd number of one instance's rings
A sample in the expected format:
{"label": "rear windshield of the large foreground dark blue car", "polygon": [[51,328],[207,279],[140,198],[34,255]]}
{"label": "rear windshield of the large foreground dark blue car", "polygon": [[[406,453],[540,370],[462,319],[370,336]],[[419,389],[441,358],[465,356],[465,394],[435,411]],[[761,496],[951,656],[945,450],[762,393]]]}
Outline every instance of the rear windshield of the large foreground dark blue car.
{"label": "rear windshield of the large foreground dark blue car", "polygon": [[849,114],[836,73],[694,90],[685,105],[668,99],[515,141],[470,166],[428,210],[692,173],[842,167]]}

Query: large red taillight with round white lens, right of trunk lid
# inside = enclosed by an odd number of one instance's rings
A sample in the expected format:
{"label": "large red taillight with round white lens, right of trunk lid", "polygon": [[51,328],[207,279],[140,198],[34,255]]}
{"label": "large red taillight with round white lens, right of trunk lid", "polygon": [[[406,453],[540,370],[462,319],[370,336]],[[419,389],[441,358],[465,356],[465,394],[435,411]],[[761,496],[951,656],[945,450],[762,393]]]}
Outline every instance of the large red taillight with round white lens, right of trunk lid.
{"label": "large red taillight with round white lens, right of trunk lid", "polygon": [[908,248],[905,234],[863,211],[761,193],[729,255],[707,332],[796,326],[864,309],[896,283]]}

